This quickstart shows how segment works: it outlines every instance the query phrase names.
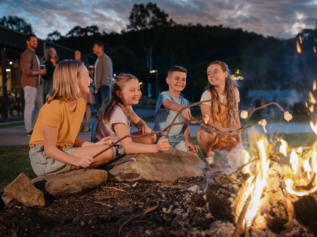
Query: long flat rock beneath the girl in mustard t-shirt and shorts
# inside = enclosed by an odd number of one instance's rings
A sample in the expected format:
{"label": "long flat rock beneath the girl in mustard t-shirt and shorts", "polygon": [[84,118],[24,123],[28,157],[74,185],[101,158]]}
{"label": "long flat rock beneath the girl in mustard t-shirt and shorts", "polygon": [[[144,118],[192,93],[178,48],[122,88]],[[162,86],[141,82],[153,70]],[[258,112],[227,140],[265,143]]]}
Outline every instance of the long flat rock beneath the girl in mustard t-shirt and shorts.
{"label": "long flat rock beneath the girl in mustard t-shirt and shorts", "polygon": [[34,185],[43,191],[45,197],[68,197],[89,189],[107,180],[107,171],[80,169],[67,173],[52,174],[32,179]]}

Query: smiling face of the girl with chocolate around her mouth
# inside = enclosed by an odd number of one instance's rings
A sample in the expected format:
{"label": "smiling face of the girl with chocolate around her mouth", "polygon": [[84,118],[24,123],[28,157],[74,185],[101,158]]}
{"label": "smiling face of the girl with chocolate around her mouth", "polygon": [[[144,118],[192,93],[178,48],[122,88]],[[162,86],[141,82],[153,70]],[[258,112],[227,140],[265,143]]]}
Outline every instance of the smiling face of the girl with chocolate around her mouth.
{"label": "smiling face of the girl with chocolate around her mouth", "polygon": [[142,95],[139,81],[135,79],[129,80],[123,90],[117,90],[116,94],[126,106],[138,104]]}

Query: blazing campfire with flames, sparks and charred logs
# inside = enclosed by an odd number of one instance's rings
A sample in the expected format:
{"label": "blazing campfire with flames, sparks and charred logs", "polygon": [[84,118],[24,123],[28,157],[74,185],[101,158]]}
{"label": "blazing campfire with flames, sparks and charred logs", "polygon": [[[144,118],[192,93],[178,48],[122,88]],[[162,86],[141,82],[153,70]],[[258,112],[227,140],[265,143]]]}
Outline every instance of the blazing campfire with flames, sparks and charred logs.
{"label": "blazing campfire with flames, sparks and charred logs", "polygon": [[[307,108],[313,112],[316,100],[309,95],[312,106]],[[258,124],[265,131],[266,121]],[[317,134],[317,123],[310,125]],[[290,148],[282,137],[276,131],[270,142],[265,135],[249,142],[249,152],[242,152],[244,165],[211,177],[206,192],[210,213],[235,224],[232,236],[261,236],[261,232],[265,236],[314,236],[309,229],[316,233],[317,141],[311,147]],[[213,168],[208,165],[210,172]]]}

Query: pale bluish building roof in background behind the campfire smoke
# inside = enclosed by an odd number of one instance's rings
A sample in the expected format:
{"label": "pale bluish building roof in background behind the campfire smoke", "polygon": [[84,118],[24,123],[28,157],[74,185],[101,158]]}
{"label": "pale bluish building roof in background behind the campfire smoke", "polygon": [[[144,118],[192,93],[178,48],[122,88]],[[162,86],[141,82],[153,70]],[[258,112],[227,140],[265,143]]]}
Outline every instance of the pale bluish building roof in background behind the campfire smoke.
{"label": "pale bluish building roof in background behind the campfire smoke", "polygon": [[247,97],[264,100],[266,103],[285,102],[287,104],[294,104],[305,102],[304,96],[297,90],[249,90]]}

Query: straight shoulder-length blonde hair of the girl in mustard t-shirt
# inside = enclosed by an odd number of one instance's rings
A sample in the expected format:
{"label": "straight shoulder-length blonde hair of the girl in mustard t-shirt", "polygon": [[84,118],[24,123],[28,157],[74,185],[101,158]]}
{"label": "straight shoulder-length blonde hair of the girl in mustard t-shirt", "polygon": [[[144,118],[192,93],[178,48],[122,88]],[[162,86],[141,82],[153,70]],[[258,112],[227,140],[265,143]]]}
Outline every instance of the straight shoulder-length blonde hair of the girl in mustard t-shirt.
{"label": "straight shoulder-length blonde hair of the girl in mustard t-shirt", "polygon": [[53,87],[46,97],[46,102],[78,100],[81,94],[77,78],[84,66],[83,62],[77,60],[63,60],[57,64],[53,74]]}

